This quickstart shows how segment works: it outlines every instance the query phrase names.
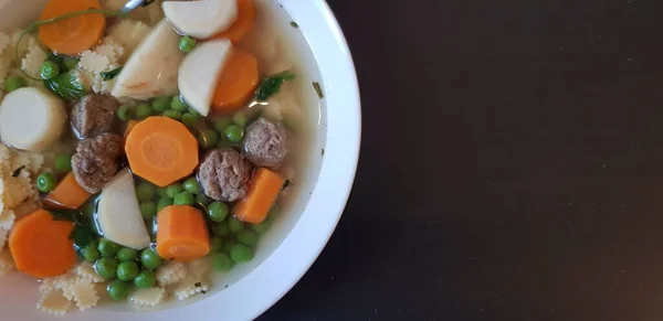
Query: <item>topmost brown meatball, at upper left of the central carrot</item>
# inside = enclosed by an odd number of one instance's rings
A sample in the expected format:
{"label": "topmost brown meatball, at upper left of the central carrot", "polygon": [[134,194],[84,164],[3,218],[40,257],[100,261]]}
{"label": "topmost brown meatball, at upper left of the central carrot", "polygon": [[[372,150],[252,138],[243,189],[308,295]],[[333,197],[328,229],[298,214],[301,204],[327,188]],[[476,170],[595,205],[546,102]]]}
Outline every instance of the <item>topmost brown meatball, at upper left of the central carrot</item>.
{"label": "topmost brown meatball, at upper left of the central carrot", "polygon": [[72,108],[72,126],[80,138],[108,132],[118,107],[112,96],[90,94]]}

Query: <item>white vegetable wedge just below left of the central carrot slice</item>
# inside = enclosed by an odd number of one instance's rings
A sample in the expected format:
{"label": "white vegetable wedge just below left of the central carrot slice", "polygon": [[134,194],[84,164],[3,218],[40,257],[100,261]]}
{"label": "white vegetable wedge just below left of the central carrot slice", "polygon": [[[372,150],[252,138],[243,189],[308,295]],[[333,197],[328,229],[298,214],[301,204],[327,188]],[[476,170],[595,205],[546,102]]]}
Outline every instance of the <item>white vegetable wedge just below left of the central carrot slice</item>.
{"label": "white vegetable wedge just below left of the central carrot slice", "polygon": [[124,169],[102,190],[97,221],[104,237],[133,249],[149,246],[149,234],[140,215],[134,178]]}

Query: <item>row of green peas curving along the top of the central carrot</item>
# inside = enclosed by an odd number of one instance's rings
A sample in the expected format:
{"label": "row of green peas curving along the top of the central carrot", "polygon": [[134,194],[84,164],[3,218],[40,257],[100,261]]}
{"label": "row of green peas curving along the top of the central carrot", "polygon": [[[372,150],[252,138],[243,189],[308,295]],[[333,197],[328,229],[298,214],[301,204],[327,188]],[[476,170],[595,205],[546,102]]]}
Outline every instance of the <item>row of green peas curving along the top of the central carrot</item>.
{"label": "row of green peas curving along the top of the central carrot", "polygon": [[198,141],[203,149],[231,147],[239,143],[244,138],[244,127],[248,122],[246,115],[238,111],[231,117],[221,117],[214,120],[212,129],[208,127],[200,114],[187,106],[180,96],[157,97],[135,107],[120,106],[117,109],[117,117],[123,121],[145,119],[152,115],[179,120],[189,129],[198,132]]}

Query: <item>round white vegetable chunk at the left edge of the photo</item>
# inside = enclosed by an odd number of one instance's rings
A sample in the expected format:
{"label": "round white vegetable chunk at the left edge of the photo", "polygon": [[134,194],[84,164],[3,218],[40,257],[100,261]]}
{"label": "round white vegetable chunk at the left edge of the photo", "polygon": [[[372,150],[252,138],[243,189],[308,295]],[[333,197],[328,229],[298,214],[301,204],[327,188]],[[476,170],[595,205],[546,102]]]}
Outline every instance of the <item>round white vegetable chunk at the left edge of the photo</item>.
{"label": "round white vegetable chunk at the left edge of the photo", "polygon": [[0,105],[0,138],[30,151],[44,151],[64,130],[64,103],[43,88],[20,88],[9,93]]}

